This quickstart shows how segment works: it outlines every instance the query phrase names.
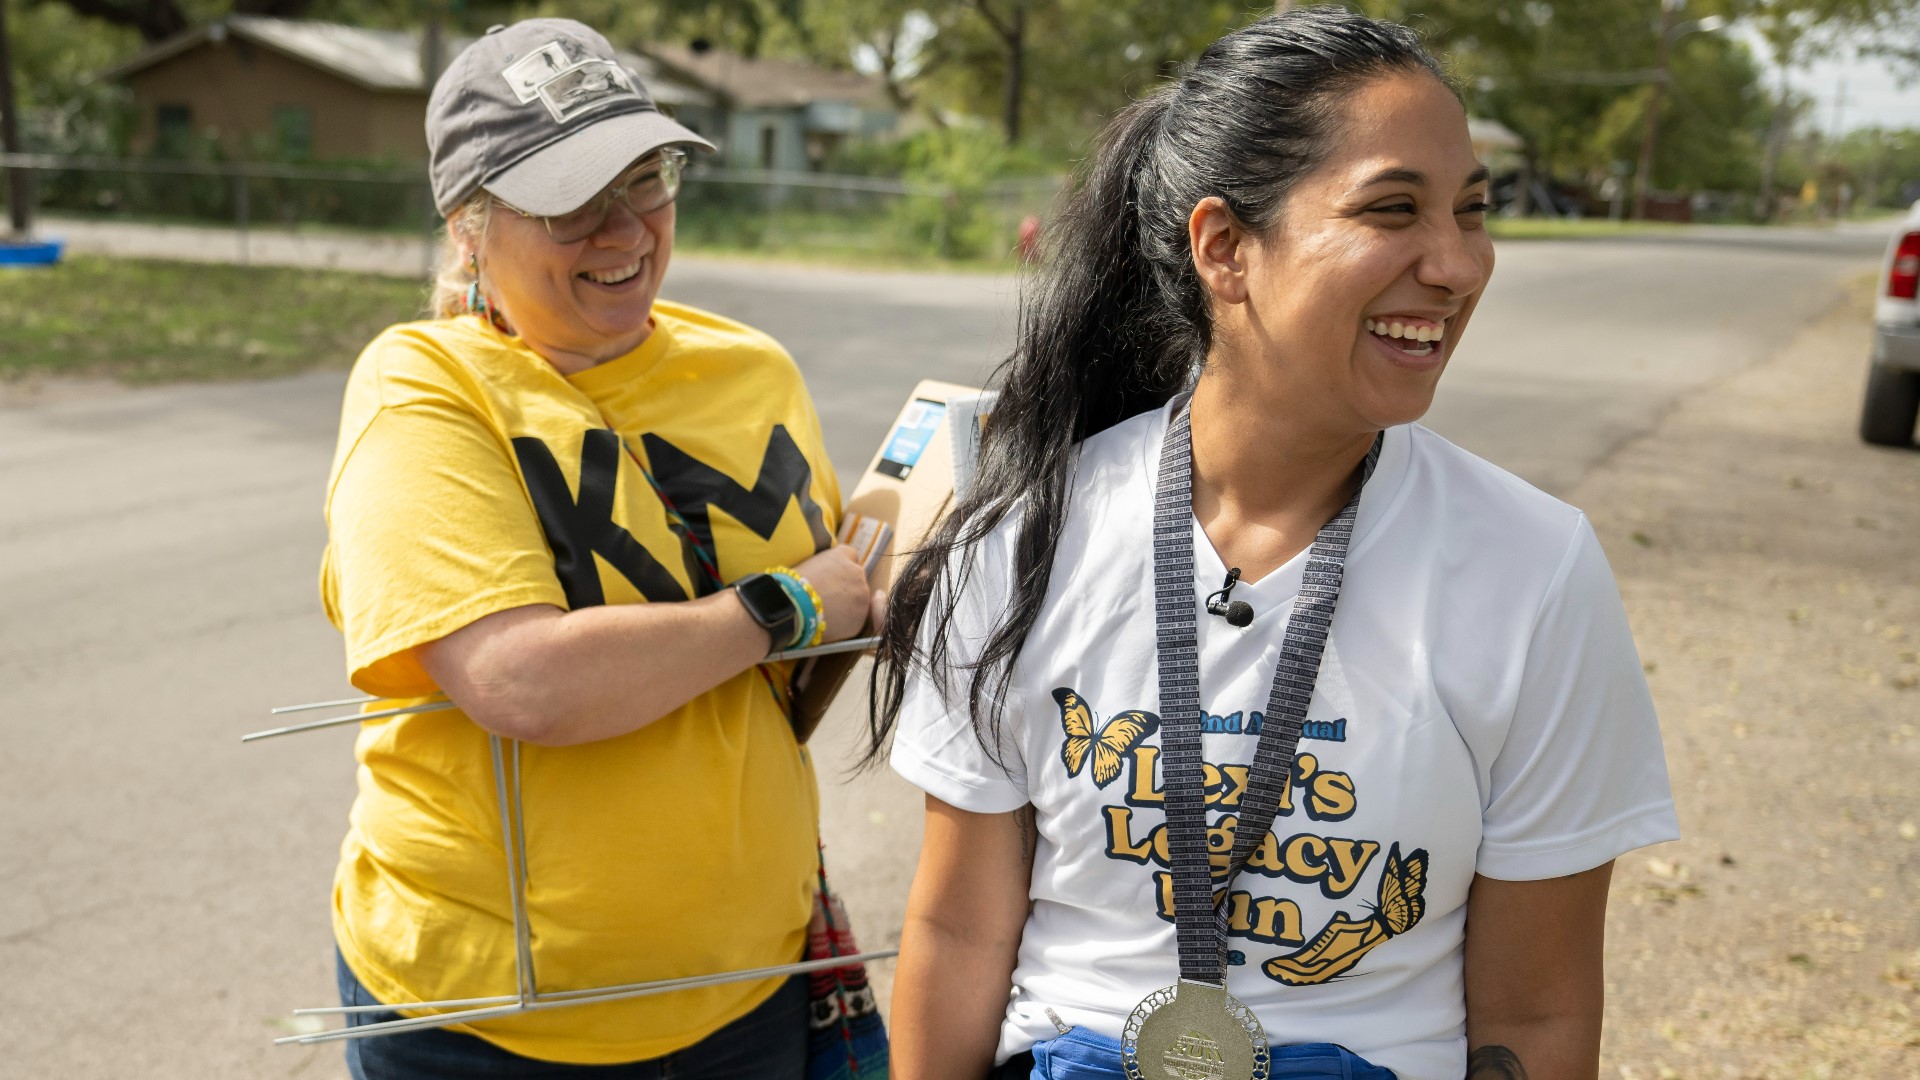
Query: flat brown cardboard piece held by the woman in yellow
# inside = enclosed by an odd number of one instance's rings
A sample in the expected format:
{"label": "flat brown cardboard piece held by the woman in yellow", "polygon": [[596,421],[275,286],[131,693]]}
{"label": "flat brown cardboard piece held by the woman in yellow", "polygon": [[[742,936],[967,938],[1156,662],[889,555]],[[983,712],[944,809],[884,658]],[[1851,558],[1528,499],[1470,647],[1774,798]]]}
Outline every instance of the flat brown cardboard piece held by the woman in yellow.
{"label": "flat brown cardboard piece held by the woman in yellow", "polygon": [[[979,463],[979,436],[996,394],[922,380],[893,419],[866,473],[847,498],[839,540],[866,565],[874,588],[893,588],[902,555],[914,552],[964,492]],[[872,626],[866,628],[868,632]],[[801,661],[793,675],[793,734],[806,742],[862,653]]]}

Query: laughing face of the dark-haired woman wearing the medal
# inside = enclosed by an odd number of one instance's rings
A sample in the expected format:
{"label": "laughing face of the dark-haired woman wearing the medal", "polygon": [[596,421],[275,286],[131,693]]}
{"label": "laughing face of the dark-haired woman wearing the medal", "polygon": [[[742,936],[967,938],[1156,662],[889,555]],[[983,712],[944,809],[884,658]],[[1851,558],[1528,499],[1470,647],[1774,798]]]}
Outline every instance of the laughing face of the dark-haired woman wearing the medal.
{"label": "laughing face of the dark-haired woman wearing the medal", "polygon": [[[1486,169],[1459,100],[1425,73],[1359,85],[1331,150],[1263,234],[1208,231],[1208,373],[1340,432],[1419,419],[1473,315],[1494,246]],[[1212,202],[1212,200],[1210,200]]]}

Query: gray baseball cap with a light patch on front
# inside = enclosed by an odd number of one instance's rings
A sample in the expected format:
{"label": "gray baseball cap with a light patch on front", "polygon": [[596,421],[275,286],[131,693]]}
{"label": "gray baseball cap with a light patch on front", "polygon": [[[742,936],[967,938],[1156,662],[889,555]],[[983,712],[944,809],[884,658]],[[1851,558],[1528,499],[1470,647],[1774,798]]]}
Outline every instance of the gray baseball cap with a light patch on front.
{"label": "gray baseball cap with a light patch on front", "polygon": [[572,19],[493,27],[426,98],[440,213],[480,188],[528,213],[580,209],[620,169],[670,144],[714,148],[662,115],[607,38]]}

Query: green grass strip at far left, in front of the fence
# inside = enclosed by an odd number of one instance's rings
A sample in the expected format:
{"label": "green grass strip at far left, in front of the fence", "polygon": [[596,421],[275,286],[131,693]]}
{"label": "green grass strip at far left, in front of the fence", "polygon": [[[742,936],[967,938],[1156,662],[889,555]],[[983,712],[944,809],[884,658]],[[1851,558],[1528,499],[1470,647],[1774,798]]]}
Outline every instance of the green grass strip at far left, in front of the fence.
{"label": "green grass strip at far left, in front of the fence", "polygon": [[419,282],[342,271],[98,256],[0,269],[0,379],[177,382],[348,367],[424,300]]}

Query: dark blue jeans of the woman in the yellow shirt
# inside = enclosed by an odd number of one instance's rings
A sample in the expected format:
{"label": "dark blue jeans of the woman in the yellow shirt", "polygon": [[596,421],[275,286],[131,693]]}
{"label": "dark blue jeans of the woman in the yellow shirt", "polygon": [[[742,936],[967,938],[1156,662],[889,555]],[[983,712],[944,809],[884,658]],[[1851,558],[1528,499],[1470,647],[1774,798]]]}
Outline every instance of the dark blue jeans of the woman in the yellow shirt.
{"label": "dark blue jeans of the woman in the yellow shirt", "polygon": [[[336,957],[342,1005],[380,1005]],[[348,1022],[397,1020],[359,1013]],[[426,1028],[348,1040],[353,1080],[801,1080],[806,1074],[806,978],[793,976],[760,1007],[705,1040],[651,1061],[563,1065],[505,1051],[478,1036]]]}

